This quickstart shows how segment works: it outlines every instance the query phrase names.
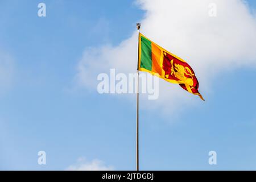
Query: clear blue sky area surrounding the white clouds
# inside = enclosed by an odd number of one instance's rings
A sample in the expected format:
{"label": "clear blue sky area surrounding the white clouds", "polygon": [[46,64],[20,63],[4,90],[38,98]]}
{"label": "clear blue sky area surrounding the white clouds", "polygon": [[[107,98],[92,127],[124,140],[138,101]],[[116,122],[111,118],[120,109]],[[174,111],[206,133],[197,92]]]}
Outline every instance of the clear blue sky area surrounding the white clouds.
{"label": "clear blue sky area surrounding the white clouds", "polygon": [[[83,157],[134,170],[135,97],[77,88],[75,76],[86,48],[130,38],[145,11],[133,1],[43,1],[40,18],[40,2],[0,1],[0,59],[11,57],[12,72],[0,85],[0,169],[63,170]],[[175,117],[142,109],[141,169],[255,170],[255,77],[253,66],[221,72],[205,102],[195,98]],[[208,164],[212,150],[216,166]]]}

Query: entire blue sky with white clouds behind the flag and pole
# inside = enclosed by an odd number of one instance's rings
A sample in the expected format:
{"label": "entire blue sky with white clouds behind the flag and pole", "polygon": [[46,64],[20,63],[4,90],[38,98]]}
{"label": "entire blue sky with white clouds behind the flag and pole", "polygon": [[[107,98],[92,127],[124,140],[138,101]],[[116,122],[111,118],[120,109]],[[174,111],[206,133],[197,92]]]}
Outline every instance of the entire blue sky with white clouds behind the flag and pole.
{"label": "entire blue sky with white clouds behind the flag and pole", "polygon": [[135,95],[98,94],[97,75],[136,71],[136,22],[206,100],[166,81],[142,97],[141,169],[256,169],[254,1],[40,2],[0,1],[0,169],[135,169]]}

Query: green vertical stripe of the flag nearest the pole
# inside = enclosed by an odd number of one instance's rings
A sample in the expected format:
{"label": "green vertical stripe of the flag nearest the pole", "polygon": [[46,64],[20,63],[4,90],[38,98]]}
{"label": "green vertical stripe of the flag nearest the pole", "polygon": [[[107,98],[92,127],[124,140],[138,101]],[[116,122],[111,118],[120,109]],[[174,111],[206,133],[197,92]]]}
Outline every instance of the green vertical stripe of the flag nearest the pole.
{"label": "green vertical stripe of the flag nearest the pole", "polygon": [[141,68],[152,70],[151,42],[141,36]]}

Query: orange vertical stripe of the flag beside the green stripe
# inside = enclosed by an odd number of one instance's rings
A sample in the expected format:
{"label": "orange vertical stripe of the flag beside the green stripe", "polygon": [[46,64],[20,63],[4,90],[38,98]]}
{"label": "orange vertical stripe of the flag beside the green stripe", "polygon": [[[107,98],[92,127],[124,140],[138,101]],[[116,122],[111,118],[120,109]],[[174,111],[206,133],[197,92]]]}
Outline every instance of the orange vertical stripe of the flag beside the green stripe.
{"label": "orange vertical stripe of the flag beside the green stripe", "polygon": [[160,64],[161,53],[162,51],[156,46],[156,44],[151,44],[151,52],[152,52],[152,72],[158,73],[160,76],[162,75],[162,68]]}

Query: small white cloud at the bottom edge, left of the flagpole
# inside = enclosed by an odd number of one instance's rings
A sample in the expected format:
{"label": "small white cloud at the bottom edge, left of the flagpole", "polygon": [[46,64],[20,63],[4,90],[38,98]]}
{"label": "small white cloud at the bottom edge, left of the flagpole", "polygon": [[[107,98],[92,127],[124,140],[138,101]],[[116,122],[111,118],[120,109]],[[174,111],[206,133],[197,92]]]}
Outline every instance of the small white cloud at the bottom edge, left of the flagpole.
{"label": "small white cloud at the bottom edge, left of the flagpole", "polygon": [[112,171],[113,166],[106,166],[104,162],[98,159],[88,162],[85,158],[77,160],[76,164],[72,164],[67,168],[68,171]]}

